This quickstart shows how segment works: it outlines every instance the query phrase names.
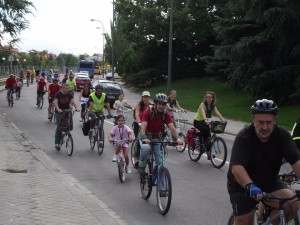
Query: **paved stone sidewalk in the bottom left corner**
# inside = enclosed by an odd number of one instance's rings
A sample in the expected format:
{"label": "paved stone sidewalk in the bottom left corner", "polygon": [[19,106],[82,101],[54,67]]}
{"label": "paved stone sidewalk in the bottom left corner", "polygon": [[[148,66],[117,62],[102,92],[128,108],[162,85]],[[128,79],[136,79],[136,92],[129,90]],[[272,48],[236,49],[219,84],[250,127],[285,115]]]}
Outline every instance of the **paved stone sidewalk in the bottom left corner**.
{"label": "paved stone sidewalk in the bottom left corner", "polygon": [[36,148],[1,109],[0,128],[0,224],[127,224]]}

